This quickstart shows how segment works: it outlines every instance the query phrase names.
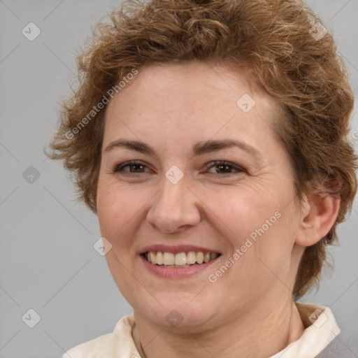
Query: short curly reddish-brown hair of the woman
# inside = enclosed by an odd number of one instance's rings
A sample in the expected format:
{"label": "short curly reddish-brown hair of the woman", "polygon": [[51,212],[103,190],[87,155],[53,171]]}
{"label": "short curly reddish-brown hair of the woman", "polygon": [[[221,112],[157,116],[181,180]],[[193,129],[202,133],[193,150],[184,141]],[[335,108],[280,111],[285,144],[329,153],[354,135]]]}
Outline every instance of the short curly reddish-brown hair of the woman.
{"label": "short curly reddish-brown hair of the woman", "polygon": [[96,213],[108,96],[144,64],[194,59],[244,69],[278,103],[273,127],[294,169],[298,203],[303,194],[341,198],[334,226],[303,253],[293,291],[298,299],[318,285],[327,245],[337,241],[336,224],[357,190],[357,156],[348,140],[350,81],[333,37],[302,1],[124,1],[96,25],[78,56],[76,90],[62,103],[48,155],[63,159],[78,199]]}

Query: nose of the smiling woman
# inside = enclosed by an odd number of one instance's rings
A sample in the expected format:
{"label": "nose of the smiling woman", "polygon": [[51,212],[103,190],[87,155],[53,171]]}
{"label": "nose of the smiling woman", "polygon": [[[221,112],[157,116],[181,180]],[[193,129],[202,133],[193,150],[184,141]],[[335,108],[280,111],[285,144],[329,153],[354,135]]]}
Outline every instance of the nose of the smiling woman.
{"label": "nose of the smiling woman", "polygon": [[199,199],[187,186],[185,177],[176,184],[163,179],[162,189],[155,195],[147,221],[164,233],[176,233],[201,221]]}

